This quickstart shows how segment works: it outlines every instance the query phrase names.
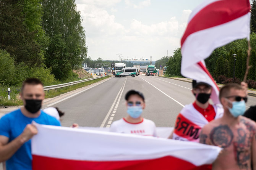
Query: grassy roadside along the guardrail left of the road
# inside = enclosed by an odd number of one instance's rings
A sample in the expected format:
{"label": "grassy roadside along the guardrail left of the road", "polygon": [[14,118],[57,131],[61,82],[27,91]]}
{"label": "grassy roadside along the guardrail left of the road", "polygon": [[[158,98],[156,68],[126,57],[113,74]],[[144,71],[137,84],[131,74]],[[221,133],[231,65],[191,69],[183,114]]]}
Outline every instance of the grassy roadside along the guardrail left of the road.
{"label": "grassy roadside along the guardrail left of the road", "polygon": [[[99,79],[90,80],[90,81],[75,84],[72,86],[58,88],[56,90],[53,89],[53,90],[49,90],[49,91],[44,91],[45,98],[53,98],[55,96],[67,93],[68,91],[76,90],[78,88],[85,87],[87,85],[99,82],[100,80],[104,80],[107,78],[109,78],[109,77],[108,76],[102,77]],[[9,88],[11,88],[11,99],[10,100],[8,100],[8,87],[0,86],[0,104],[2,104],[4,106],[20,106],[20,105],[22,105],[23,104],[22,100],[19,98],[19,92],[21,90],[21,87],[11,86]]]}

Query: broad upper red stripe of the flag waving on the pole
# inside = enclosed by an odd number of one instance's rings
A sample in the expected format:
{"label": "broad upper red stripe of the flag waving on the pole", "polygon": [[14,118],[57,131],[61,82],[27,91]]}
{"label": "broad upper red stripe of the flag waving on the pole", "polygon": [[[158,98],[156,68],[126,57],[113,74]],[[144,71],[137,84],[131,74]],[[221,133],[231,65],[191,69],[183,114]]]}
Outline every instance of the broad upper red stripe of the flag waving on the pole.
{"label": "broad upper red stripe of the flag waving on the pole", "polygon": [[207,28],[227,23],[250,12],[249,0],[218,0],[201,9],[188,23],[181,38],[181,47],[186,38]]}

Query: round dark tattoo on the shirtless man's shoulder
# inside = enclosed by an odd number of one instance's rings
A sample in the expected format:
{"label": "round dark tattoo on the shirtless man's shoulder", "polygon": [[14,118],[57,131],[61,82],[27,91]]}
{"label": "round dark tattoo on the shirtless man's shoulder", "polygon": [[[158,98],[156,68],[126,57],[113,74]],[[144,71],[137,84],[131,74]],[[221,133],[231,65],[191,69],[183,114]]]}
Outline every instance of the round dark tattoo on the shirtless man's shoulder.
{"label": "round dark tattoo on the shirtless man's shoulder", "polygon": [[215,146],[227,148],[233,140],[233,133],[228,125],[219,125],[212,129],[210,133],[210,140]]}

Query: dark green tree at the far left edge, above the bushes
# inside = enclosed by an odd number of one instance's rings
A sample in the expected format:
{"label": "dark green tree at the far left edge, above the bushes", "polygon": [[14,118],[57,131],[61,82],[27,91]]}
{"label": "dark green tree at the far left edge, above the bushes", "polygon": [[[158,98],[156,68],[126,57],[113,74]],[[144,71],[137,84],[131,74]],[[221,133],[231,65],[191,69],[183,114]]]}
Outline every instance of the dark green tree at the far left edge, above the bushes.
{"label": "dark green tree at the far left edge, above the bushes", "polygon": [[6,49],[16,63],[41,66],[41,47],[36,42],[36,31],[26,25],[24,0],[1,0],[0,2],[0,49]]}

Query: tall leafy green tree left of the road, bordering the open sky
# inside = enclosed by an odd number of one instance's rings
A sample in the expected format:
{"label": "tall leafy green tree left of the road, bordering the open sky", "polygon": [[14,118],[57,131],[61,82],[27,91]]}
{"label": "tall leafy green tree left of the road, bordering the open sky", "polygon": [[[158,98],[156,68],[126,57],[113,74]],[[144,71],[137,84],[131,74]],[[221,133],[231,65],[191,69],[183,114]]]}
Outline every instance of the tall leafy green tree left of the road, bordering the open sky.
{"label": "tall leafy green tree left of the road, bordering the open sky", "polygon": [[81,16],[73,0],[42,1],[42,27],[49,36],[45,64],[57,79],[66,79],[87,56]]}

